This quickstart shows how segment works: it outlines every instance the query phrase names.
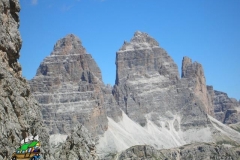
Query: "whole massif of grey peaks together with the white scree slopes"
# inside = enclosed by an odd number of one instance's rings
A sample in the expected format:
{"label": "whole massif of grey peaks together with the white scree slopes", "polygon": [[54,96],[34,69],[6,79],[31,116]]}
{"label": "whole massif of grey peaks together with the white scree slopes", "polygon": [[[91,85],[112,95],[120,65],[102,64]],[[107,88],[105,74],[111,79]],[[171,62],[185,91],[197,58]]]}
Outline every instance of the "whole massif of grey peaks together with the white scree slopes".
{"label": "whole massif of grey peaks together with the white scree slopes", "polygon": [[52,144],[63,143],[79,124],[95,138],[100,159],[143,144],[240,143],[240,134],[222,124],[238,127],[239,102],[207,86],[201,64],[184,57],[179,76],[159,43],[136,32],[116,53],[116,66],[115,85],[105,86],[79,38],[71,34],[55,44],[29,81]]}

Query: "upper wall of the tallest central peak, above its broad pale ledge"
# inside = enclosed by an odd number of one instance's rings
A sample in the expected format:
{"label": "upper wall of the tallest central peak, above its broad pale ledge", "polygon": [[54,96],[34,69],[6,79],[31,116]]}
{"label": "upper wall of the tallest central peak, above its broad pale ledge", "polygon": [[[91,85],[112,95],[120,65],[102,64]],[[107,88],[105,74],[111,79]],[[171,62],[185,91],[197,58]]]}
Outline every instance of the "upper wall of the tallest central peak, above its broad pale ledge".
{"label": "upper wall of the tallest central peak, above its broad pale ledge", "polygon": [[146,33],[136,32],[131,41],[124,42],[117,52],[116,84],[142,76],[160,74],[170,80],[178,79],[177,65],[156,40]]}

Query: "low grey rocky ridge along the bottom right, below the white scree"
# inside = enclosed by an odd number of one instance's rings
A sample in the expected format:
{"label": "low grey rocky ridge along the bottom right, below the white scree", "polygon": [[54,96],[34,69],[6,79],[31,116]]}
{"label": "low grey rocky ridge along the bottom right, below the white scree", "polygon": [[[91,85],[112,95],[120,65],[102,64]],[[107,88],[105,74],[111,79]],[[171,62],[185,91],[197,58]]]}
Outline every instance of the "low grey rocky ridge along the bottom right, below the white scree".
{"label": "low grey rocky ridge along the bottom right, below the white scree", "polygon": [[196,143],[169,150],[156,150],[151,146],[134,146],[117,156],[116,160],[192,160],[232,159],[238,160],[240,148],[207,143]]}

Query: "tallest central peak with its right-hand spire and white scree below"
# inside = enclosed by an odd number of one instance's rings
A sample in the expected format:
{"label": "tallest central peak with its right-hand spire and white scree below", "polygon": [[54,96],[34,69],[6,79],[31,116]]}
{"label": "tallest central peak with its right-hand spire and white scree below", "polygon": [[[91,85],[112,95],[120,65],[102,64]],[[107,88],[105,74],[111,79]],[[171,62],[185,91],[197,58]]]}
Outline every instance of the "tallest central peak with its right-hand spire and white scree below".
{"label": "tallest central peak with its right-hand spire and white scree below", "polygon": [[180,78],[159,43],[136,32],[116,53],[116,66],[113,96],[122,114],[118,121],[108,117],[108,130],[97,145],[100,157],[111,159],[142,144],[166,149],[195,142],[240,142],[238,132],[212,118],[214,97],[201,64],[184,57]]}

